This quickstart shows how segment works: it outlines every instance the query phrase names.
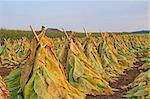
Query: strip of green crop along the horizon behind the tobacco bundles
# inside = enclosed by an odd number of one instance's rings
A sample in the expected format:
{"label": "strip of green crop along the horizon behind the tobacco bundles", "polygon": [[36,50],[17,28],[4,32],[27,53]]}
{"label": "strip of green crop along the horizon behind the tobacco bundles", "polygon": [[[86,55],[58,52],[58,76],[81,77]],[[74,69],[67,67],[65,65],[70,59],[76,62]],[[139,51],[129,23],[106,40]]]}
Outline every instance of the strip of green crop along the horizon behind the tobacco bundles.
{"label": "strip of green crop along the horizon behind the tobacco bundles", "polygon": [[[125,32],[122,32],[123,34],[126,34]],[[71,32],[68,32],[68,35],[70,35]],[[64,33],[50,33],[46,32],[46,35],[50,38],[62,38],[65,36]],[[76,37],[85,37],[85,33],[77,33]],[[92,33],[92,36],[98,37],[101,36],[101,33],[96,32]],[[25,30],[7,30],[7,29],[0,29],[0,40],[6,38],[10,38],[11,40],[17,40],[21,39],[22,37],[27,37],[29,40],[33,38],[33,33],[31,31],[25,31]]]}

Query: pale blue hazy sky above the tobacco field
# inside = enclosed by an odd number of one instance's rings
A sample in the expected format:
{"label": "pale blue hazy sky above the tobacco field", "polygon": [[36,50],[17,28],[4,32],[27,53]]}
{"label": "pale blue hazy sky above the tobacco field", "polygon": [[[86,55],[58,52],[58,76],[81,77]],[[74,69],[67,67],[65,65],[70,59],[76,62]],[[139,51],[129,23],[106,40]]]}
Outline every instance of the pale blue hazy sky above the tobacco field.
{"label": "pale blue hazy sky above the tobacco field", "polygon": [[0,0],[0,28],[83,31],[150,29],[149,0]]}

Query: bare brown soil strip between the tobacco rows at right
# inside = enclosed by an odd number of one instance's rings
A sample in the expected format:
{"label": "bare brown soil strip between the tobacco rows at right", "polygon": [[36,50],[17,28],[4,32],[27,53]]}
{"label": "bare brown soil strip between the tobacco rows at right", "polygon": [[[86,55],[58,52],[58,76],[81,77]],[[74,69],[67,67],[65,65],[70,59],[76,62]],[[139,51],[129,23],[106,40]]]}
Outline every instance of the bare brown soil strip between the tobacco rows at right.
{"label": "bare brown soil strip between the tobacco rows at right", "polygon": [[125,95],[128,91],[126,86],[133,82],[133,80],[140,74],[138,67],[142,66],[142,64],[143,63],[140,61],[134,63],[135,67],[131,68],[129,71],[126,71],[125,75],[119,77],[116,82],[110,83],[112,88],[119,89],[119,91],[115,92],[113,95],[88,95],[87,99],[125,99],[123,98],[123,95]]}

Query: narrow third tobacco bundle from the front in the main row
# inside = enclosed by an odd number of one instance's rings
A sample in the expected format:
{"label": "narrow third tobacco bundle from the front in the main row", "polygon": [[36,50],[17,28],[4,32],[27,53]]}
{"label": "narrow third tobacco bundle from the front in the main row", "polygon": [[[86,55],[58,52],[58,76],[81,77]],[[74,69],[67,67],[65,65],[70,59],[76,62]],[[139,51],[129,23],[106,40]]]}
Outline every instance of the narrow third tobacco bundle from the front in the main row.
{"label": "narrow third tobacco bundle from the front in the main row", "polygon": [[105,70],[102,66],[101,57],[98,54],[97,44],[94,38],[92,38],[92,36],[90,36],[88,33],[87,35],[88,36],[84,42],[83,51],[87,56],[89,62],[91,63],[92,67],[94,68],[94,70],[100,76],[102,76],[103,79],[109,81],[109,76],[105,73]]}

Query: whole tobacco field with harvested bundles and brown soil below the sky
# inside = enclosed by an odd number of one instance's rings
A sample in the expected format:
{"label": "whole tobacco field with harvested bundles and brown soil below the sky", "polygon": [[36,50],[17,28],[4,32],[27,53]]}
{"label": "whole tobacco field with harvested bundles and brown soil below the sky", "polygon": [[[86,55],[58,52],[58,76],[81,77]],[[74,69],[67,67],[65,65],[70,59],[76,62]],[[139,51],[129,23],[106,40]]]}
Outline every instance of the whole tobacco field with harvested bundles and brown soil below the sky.
{"label": "whole tobacco field with harvested bundles and brown soil below the sky", "polygon": [[150,99],[149,34],[37,34],[0,30],[4,99]]}

